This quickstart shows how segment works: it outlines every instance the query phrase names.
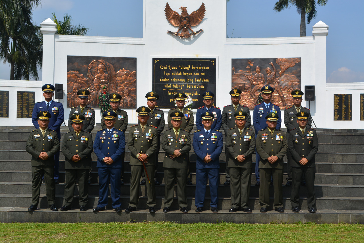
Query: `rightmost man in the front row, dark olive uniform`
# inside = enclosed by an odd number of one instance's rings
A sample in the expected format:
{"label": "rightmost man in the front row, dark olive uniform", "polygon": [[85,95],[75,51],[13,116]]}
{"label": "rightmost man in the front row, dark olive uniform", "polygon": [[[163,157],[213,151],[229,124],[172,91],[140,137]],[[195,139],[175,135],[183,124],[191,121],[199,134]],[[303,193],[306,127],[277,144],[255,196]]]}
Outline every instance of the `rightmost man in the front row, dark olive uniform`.
{"label": "rightmost man in the front row, dark olive uniform", "polygon": [[[310,213],[316,211],[316,196],[314,192],[315,181],[315,154],[318,151],[316,131],[309,128],[309,113],[301,111],[296,114],[298,128],[289,131],[288,149],[292,155],[292,192],[291,204],[294,213],[300,212],[300,184],[302,175],[305,175],[307,184],[307,206]],[[301,139],[302,138],[302,139]],[[301,144],[302,143],[302,144]]]}

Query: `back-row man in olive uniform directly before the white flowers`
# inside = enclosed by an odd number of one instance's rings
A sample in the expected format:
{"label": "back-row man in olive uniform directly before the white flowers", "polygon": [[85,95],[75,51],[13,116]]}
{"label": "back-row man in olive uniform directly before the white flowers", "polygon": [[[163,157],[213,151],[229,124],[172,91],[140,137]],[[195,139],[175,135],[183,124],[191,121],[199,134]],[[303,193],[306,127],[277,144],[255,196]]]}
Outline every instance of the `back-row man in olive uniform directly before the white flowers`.
{"label": "back-row man in olive uniform directly before the white flowers", "polygon": [[[171,123],[172,118],[170,115],[176,111],[182,112],[184,114],[184,119],[182,119],[181,129],[186,130],[188,133],[190,133],[193,129],[194,119],[193,119],[193,111],[185,109],[186,98],[187,95],[182,92],[177,93],[174,96],[177,107],[169,110],[167,119],[168,119],[168,127],[172,129],[173,125]],[[187,185],[192,186],[193,184],[190,178],[190,155],[187,154],[186,156],[187,156]]]}

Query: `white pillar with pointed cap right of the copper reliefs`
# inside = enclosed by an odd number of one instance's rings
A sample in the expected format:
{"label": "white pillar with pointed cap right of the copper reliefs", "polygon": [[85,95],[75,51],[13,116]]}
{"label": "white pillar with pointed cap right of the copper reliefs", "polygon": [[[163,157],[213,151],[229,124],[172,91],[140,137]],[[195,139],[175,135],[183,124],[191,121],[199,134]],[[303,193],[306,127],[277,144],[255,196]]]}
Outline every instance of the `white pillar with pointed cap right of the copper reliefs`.
{"label": "white pillar with pointed cap right of the copper reliefs", "polygon": [[[322,21],[312,27],[314,44],[314,80],[307,85],[315,85],[315,101],[311,102],[311,113],[317,128],[326,128],[326,119],[332,119],[333,111],[326,111],[326,103],[333,102],[326,97],[326,36],[329,26]],[[317,105],[316,105],[317,104]]]}

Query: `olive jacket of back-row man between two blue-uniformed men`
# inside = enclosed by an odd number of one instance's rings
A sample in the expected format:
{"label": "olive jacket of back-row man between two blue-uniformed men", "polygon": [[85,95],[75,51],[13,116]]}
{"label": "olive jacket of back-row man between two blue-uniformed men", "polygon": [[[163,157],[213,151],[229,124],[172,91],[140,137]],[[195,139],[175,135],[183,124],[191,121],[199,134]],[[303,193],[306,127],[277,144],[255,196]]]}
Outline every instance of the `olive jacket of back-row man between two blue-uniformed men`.
{"label": "olive jacket of back-row man between two blue-uniformed men", "polygon": [[[238,108],[236,110],[244,111],[244,112],[246,112],[246,114],[248,114],[246,116],[245,128],[250,127],[250,125],[252,125],[252,119],[250,118],[249,108],[246,107],[245,105],[238,104]],[[235,108],[234,108],[233,104],[226,105],[222,109],[222,129],[225,131],[225,136],[226,136],[227,131],[230,128],[235,127],[235,125],[236,125],[234,114],[235,114]]]}

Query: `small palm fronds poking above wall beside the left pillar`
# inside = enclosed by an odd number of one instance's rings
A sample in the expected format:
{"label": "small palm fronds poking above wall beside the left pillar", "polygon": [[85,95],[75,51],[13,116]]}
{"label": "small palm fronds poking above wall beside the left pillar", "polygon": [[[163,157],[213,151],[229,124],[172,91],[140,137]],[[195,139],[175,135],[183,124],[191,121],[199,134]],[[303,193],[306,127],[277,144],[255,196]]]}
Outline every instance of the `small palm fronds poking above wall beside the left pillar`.
{"label": "small palm fronds poking above wall beside the left pillar", "polygon": [[87,35],[88,28],[85,28],[83,25],[72,25],[72,17],[70,15],[63,15],[63,21],[57,20],[56,14],[52,13],[53,21],[57,24],[56,35]]}

